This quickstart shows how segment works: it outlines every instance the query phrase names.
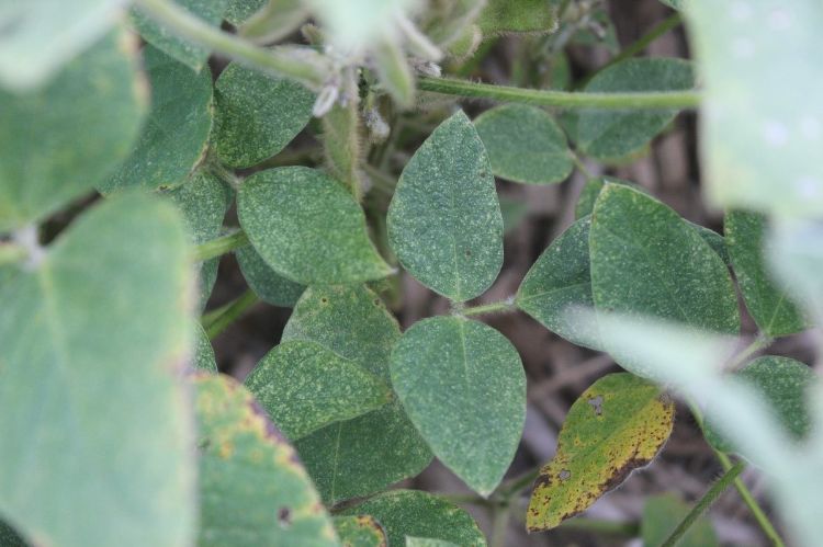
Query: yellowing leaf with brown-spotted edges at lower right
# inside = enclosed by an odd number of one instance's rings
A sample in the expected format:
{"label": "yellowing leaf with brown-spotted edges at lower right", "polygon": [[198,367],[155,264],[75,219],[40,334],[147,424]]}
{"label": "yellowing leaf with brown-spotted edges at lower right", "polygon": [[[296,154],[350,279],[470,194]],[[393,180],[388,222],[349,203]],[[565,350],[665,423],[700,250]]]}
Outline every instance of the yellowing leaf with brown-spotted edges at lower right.
{"label": "yellowing leaf with brown-spotted edges at lower right", "polygon": [[620,486],[668,440],[672,399],[629,373],[597,380],[572,404],[554,458],[534,482],[526,526],[550,529]]}

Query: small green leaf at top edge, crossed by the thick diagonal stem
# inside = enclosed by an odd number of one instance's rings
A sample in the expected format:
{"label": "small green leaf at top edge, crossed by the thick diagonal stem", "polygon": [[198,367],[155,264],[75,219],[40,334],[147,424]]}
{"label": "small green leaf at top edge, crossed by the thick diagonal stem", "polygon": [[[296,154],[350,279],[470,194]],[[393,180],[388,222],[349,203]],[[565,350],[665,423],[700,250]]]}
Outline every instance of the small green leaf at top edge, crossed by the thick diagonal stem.
{"label": "small green leaf at top edge, crossed by the thick diagonal stem", "polygon": [[[229,0],[173,0],[173,3],[214,27],[219,27],[228,2]],[[195,72],[200,72],[208,59],[208,49],[181,38],[173,31],[155,22],[148,15],[144,15],[139,9],[133,11],[132,18],[137,32],[146,42]]]}

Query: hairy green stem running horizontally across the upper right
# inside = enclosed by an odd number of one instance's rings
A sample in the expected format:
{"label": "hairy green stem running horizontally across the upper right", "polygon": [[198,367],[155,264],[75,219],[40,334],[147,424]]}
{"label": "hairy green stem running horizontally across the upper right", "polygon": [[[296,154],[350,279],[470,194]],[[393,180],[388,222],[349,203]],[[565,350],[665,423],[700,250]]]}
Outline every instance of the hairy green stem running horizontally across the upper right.
{"label": "hairy green stem running horizontally across the upper right", "polygon": [[492,99],[501,102],[559,106],[562,109],[601,110],[659,110],[694,109],[700,104],[700,92],[661,91],[647,93],[576,93],[520,89],[489,83],[475,83],[450,78],[420,78],[418,88],[424,91],[460,95],[472,99]]}

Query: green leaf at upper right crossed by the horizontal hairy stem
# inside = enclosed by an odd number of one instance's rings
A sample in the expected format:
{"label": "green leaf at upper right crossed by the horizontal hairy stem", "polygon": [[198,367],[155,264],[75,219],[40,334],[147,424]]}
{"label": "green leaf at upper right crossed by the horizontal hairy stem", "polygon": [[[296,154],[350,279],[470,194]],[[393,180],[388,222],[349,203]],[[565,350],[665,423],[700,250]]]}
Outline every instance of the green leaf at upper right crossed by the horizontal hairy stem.
{"label": "green leaf at upper right crossed by the horizontal hairy stem", "polygon": [[[586,92],[680,91],[694,86],[691,64],[686,60],[636,58],[598,72],[586,86]],[[646,146],[676,115],[673,110],[583,111],[577,122],[577,143],[593,158],[622,158]]]}

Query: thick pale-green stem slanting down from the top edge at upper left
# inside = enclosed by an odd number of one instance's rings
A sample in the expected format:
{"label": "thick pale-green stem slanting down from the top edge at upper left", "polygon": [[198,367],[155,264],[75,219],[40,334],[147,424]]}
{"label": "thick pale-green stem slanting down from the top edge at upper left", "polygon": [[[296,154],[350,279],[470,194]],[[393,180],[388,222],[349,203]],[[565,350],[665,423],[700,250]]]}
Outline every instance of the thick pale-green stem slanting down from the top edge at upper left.
{"label": "thick pale-green stem slanting down from the top edge at upper left", "polygon": [[136,5],[174,34],[245,65],[296,80],[312,89],[319,88],[326,80],[326,71],[315,64],[283,52],[258,47],[215,29],[169,0],[137,0]]}

